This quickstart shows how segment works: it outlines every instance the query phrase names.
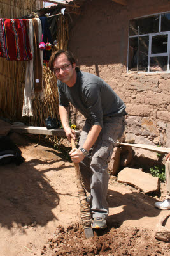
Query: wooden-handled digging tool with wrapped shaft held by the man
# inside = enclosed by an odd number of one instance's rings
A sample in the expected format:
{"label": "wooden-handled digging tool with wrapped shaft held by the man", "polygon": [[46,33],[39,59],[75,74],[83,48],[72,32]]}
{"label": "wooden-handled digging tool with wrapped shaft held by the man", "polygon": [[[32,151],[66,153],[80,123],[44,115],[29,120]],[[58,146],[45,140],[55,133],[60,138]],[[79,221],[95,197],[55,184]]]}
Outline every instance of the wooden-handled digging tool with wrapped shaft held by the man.
{"label": "wooden-handled digging tool with wrapped shaft held by the man", "polygon": [[[76,148],[73,138],[71,138],[71,147]],[[91,227],[92,218],[90,214],[90,205],[89,205],[89,202],[87,202],[87,195],[85,192],[85,188],[83,186],[83,182],[81,180],[79,163],[74,163],[74,166],[76,171],[78,196],[80,200],[81,222],[85,230],[85,237],[89,238],[94,236],[93,229]]]}

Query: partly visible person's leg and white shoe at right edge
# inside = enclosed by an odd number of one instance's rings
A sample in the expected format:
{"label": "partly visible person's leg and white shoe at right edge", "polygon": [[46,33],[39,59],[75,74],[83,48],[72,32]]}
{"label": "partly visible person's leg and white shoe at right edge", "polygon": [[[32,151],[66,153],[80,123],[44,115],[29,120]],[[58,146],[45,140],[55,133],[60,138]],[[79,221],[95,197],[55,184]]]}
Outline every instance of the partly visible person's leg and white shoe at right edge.
{"label": "partly visible person's leg and white shoe at right edge", "polygon": [[166,156],[166,185],[167,185],[167,199],[162,202],[156,202],[155,207],[161,210],[170,209],[170,153]]}

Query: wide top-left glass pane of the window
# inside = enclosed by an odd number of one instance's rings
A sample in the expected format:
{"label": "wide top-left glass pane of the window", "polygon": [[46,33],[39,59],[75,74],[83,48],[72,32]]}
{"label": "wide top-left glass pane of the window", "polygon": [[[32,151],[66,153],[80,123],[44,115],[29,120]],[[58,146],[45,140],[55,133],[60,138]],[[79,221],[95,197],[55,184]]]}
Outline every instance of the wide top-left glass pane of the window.
{"label": "wide top-left glass pane of the window", "polygon": [[139,35],[159,32],[159,15],[130,20],[129,36],[138,35],[138,26]]}

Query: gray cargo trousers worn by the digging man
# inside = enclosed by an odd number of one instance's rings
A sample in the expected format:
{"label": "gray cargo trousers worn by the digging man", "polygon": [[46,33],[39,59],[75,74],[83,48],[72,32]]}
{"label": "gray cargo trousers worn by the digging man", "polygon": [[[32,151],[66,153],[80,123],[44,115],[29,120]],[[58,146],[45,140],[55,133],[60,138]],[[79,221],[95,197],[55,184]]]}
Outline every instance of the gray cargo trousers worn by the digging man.
{"label": "gray cargo trousers worn by the digging man", "polygon": [[[108,202],[106,195],[108,191],[108,162],[113,153],[113,148],[124,132],[125,116],[110,118],[110,122],[103,123],[103,128],[89,150],[87,157],[80,162],[80,172],[85,189],[90,193],[90,211],[92,217],[106,218],[108,216]],[[79,148],[83,144],[90,131],[91,125],[85,122],[81,132]]]}

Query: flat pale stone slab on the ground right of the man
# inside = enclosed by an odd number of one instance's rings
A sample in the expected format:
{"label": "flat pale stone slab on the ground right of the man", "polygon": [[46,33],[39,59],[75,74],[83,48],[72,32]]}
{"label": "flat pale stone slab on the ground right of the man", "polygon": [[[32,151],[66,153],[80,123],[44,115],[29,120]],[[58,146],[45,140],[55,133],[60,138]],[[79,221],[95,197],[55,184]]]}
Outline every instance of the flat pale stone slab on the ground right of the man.
{"label": "flat pale stone slab on the ground right of the man", "polygon": [[124,168],[118,173],[118,182],[127,183],[141,189],[144,193],[159,191],[159,178],[153,177],[149,173],[145,173],[140,169]]}

